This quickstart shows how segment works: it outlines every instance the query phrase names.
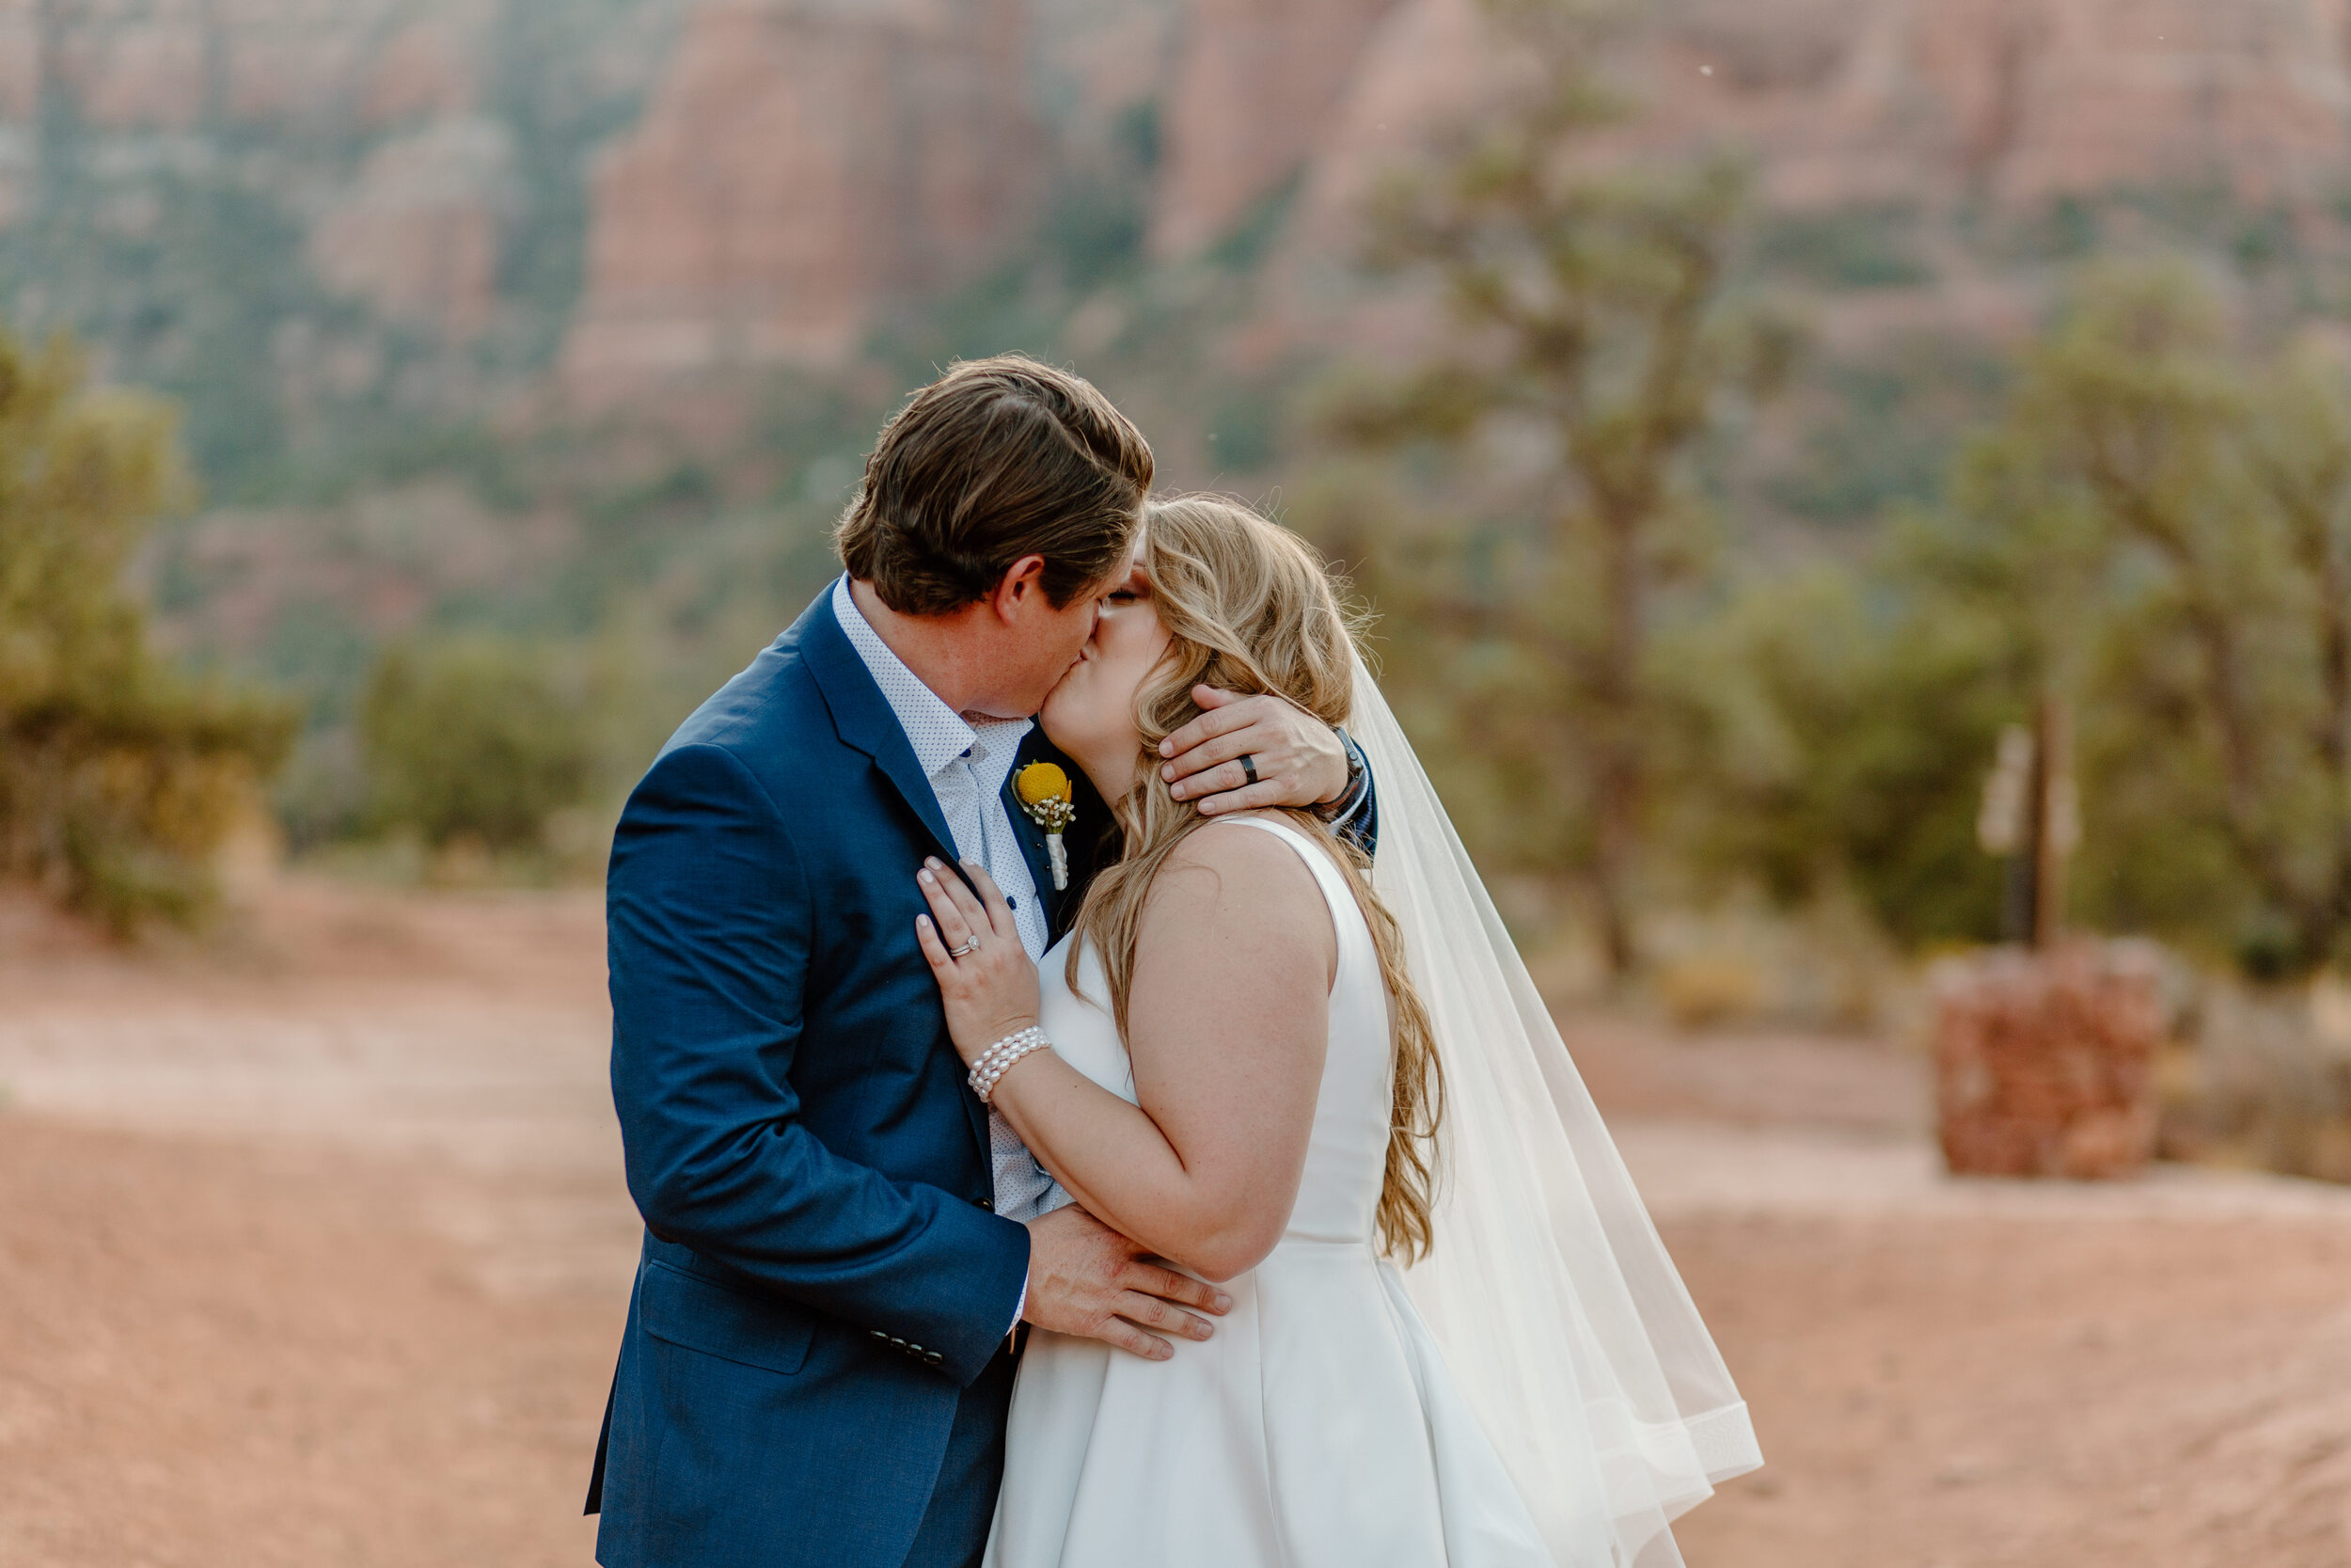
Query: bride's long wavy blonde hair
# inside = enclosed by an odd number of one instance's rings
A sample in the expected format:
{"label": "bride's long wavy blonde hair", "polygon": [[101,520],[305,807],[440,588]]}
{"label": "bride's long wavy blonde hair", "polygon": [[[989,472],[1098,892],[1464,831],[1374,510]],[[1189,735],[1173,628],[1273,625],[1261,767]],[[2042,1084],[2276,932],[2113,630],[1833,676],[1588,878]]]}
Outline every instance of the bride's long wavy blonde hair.
{"label": "bride's long wavy blonde hair", "polygon": [[[1270,691],[1324,724],[1345,724],[1354,703],[1352,623],[1328,571],[1302,538],[1232,501],[1171,496],[1145,510],[1143,559],[1171,642],[1136,691],[1140,762],[1133,790],[1114,802],[1126,835],[1124,856],[1093,879],[1077,914],[1077,929],[1103,954],[1119,1034],[1126,1034],[1136,938],[1152,882],[1178,844],[1215,820],[1178,802],[1159,778],[1159,743],[1199,717],[1192,686],[1244,696]],[[1404,933],[1371,889],[1371,863],[1319,816],[1286,816],[1347,865],[1347,884],[1380,952],[1380,978],[1394,1004],[1394,1110],[1380,1187],[1380,1246],[1413,1262],[1432,1241],[1432,1152],[1444,1110],[1436,1034],[1404,964]],[[1070,945],[1072,990],[1079,947]]]}

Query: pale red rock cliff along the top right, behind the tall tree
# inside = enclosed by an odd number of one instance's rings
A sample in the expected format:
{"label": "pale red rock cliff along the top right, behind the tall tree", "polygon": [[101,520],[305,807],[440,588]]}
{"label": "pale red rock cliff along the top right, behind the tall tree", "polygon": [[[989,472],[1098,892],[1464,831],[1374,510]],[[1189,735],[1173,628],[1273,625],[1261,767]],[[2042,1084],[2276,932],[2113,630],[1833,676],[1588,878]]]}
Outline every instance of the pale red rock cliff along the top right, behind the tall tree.
{"label": "pale red rock cliff along the top right, behind the tall tree", "polygon": [[[1660,0],[1617,45],[1641,141],[1737,141],[1777,205],[2116,186],[2330,195],[2351,172],[2342,0]],[[1302,172],[1317,240],[1375,165],[1509,71],[1476,0],[1192,0],[1154,237],[1215,240]]]}

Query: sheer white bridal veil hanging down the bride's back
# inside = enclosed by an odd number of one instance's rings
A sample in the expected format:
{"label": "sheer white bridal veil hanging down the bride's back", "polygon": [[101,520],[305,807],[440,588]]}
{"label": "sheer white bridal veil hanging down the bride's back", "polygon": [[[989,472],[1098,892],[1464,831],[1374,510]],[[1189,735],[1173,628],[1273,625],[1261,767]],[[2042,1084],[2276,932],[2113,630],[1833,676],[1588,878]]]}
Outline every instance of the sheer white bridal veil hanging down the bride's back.
{"label": "sheer white bridal veil hanging down the bride's back", "polygon": [[1559,1566],[1679,1568],[1667,1521],[1763,1462],[1747,1406],[1361,661],[1347,729],[1446,1079],[1436,1246],[1404,1286]]}

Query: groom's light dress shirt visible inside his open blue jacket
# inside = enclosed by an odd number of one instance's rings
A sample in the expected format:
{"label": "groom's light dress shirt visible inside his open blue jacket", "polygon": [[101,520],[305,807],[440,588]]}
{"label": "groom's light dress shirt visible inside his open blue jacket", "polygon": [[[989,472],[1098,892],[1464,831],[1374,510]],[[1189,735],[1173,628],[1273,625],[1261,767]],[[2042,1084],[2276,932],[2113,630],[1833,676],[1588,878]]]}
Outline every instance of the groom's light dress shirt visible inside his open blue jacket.
{"label": "groom's light dress shirt visible inside his open blue jacket", "polygon": [[[842,623],[849,646],[865,661],[875,684],[882,686],[882,698],[898,715],[898,726],[905,731],[907,745],[915,748],[915,766],[931,780],[938,811],[947,818],[955,853],[987,867],[1013,905],[1020,945],[1027,947],[1030,959],[1044,959],[1051,938],[1044,898],[1037,896],[1027,856],[1020,853],[1013,820],[1004,811],[1004,780],[1011,778],[1013,757],[1030,731],[1030,719],[964,722],[936,691],[922,684],[919,675],[905,668],[903,658],[889,651],[889,644],[882,642],[851,597],[846,574],[832,585],[832,618]],[[910,865],[905,875],[912,877],[917,870]],[[1025,1225],[1070,1201],[994,1107],[987,1110],[987,1166],[994,1208],[1006,1220]]]}

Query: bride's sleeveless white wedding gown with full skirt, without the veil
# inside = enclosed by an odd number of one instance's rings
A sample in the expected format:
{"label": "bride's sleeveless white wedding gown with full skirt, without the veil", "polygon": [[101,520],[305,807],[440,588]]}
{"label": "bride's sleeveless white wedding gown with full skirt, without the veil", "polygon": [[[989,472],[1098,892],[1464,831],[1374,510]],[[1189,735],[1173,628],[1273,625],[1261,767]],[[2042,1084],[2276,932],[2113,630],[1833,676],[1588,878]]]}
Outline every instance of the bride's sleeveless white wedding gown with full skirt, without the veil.
{"label": "bride's sleeveless white wedding gown with full skirt, without the veil", "polygon": [[[1298,849],[1338,926],[1298,1204],[1265,1262],[1225,1286],[1234,1305],[1206,1345],[1178,1340],[1171,1361],[1143,1361],[1030,1335],[987,1568],[1556,1568],[1378,1253],[1392,1039],[1371,929],[1307,835],[1227,823]],[[1044,1030],[1131,1103],[1100,959],[1084,952],[1079,985],[1098,999],[1086,1001],[1065,957],[1044,961]],[[1610,1561],[1603,1530],[1594,1552]]]}

